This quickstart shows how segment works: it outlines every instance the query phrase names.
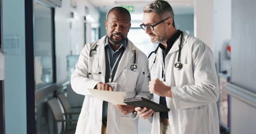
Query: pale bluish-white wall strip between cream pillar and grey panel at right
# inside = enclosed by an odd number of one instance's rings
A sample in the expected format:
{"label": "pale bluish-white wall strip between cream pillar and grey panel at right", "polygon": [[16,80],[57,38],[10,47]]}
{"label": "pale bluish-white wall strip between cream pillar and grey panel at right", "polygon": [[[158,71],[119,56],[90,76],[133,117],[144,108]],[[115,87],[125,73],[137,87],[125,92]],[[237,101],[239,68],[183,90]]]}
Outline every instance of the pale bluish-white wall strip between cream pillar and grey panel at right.
{"label": "pale bluish-white wall strip between cream pillar and grey panel at right", "polygon": [[227,70],[230,59],[226,57],[227,40],[231,39],[231,0],[213,1],[212,45],[217,72],[219,72],[219,51],[221,71]]}

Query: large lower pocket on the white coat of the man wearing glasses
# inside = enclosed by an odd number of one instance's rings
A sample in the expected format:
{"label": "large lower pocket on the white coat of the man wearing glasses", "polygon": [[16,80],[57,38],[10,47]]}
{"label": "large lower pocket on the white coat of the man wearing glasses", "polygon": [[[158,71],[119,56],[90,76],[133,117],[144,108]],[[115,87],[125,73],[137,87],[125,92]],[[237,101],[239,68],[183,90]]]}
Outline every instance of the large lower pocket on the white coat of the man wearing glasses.
{"label": "large lower pocket on the white coat of the man wearing glasses", "polygon": [[208,134],[206,110],[179,110],[179,132],[183,134]]}

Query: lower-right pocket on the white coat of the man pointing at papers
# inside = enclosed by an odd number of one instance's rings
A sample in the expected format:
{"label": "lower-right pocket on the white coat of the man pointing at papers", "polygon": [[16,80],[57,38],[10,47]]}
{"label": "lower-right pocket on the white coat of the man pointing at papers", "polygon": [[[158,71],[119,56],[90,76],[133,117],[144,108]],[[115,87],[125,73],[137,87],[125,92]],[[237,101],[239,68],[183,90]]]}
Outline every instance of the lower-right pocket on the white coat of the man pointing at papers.
{"label": "lower-right pocket on the white coat of the man pointing at papers", "polygon": [[119,134],[137,134],[138,133],[138,120],[131,119],[131,117],[120,117]]}

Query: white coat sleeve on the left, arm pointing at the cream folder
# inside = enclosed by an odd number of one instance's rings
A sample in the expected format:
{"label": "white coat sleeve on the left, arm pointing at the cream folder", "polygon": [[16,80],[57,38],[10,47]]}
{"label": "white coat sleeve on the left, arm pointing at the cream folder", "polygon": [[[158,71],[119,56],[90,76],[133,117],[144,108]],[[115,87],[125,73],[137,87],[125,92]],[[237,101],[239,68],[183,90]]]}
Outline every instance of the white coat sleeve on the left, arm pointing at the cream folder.
{"label": "white coat sleeve on the left, arm pointing at the cream folder", "polygon": [[76,69],[71,75],[71,87],[77,94],[91,96],[86,88],[93,89],[100,81],[88,78],[89,44],[82,49],[76,64]]}

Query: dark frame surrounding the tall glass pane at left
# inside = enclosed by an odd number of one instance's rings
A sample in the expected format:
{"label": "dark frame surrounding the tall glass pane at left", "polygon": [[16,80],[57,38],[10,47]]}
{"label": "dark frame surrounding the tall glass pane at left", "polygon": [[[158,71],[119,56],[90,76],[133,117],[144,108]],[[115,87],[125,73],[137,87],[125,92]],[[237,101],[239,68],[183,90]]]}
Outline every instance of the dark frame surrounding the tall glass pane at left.
{"label": "dark frame surrounding the tall glass pane at left", "polygon": [[[53,33],[53,83],[36,90],[35,63],[34,63],[34,2],[52,9]],[[36,102],[48,94],[56,94],[56,55],[55,55],[55,6],[48,5],[45,0],[25,0],[25,43],[26,43],[26,104],[27,104],[27,133],[37,133],[36,129]]]}

